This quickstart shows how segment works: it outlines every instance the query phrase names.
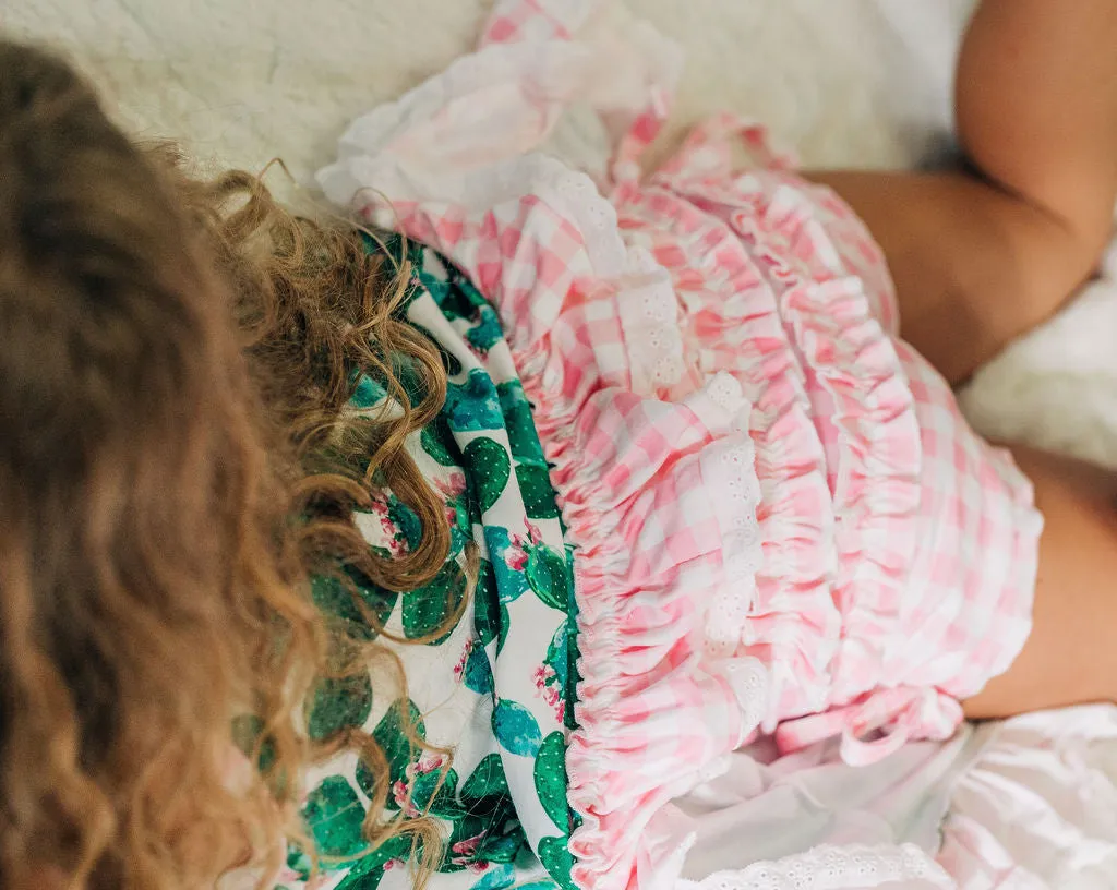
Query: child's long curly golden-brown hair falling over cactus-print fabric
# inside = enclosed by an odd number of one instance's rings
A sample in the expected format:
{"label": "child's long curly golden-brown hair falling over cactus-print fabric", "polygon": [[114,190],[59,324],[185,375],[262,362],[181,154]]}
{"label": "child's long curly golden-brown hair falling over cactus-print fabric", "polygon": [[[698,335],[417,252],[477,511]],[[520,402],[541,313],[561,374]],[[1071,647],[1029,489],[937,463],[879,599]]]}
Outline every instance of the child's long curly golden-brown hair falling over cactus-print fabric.
{"label": "child's long curly golden-brown hair falling over cactus-print fabric", "polygon": [[[3,890],[274,873],[303,769],[344,746],[386,793],[373,739],[312,743],[299,726],[316,678],[398,667],[324,621],[309,578],[409,591],[449,547],[402,448],[445,371],[393,315],[409,269],[383,257],[289,216],[254,176],[188,179],[65,63],[0,40]],[[357,373],[402,414],[350,417]],[[398,558],[351,519],[373,476],[422,525]],[[242,715],[260,768],[230,773]],[[411,832],[437,863],[430,824],[382,813],[371,843]]]}

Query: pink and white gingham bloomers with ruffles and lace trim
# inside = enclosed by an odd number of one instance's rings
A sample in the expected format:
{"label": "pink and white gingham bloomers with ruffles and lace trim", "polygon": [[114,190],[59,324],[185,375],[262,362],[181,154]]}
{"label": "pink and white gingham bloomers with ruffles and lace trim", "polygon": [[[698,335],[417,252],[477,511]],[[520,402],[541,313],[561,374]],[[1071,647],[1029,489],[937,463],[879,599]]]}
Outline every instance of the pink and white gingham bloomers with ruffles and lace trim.
{"label": "pink and white gingham bloomers with ruffles and lace trim", "polygon": [[[576,547],[584,890],[670,886],[672,798],[758,733],[850,763],[951,736],[1029,633],[1041,526],[897,338],[868,231],[761,130],[717,117],[641,174],[678,56],[617,26],[498,2],[321,175],[456,262],[512,344]],[[584,106],[613,145],[593,175],[542,147]]]}

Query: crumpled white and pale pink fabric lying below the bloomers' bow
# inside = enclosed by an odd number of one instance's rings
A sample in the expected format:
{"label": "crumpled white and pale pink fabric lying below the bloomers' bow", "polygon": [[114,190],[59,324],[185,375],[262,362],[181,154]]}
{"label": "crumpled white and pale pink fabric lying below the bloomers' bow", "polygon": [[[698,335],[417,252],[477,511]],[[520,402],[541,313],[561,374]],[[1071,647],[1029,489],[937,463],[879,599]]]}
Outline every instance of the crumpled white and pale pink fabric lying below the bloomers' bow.
{"label": "crumpled white and pale pink fabric lying below the bloomers' bow", "polygon": [[913,844],[961,890],[1117,887],[1111,707],[971,727],[945,745],[909,745],[868,768],[842,764],[832,744],[766,759],[764,752],[741,752],[724,776],[681,802],[691,821],[680,832],[698,835],[686,877],[700,881],[820,844]]}

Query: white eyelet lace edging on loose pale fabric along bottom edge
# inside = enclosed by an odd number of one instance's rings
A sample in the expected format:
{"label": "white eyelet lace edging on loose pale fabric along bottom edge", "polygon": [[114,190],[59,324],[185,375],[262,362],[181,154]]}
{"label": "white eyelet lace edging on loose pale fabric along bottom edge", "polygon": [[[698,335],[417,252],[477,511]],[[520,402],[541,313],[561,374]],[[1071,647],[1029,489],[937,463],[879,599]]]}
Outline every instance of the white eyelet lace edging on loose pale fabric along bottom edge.
{"label": "white eyelet lace edging on loose pale fabric along bottom edge", "polygon": [[904,846],[817,846],[776,862],[720,871],[678,890],[865,890],[896,881],[924,881],[953,890],[954,882],[923,850]]}

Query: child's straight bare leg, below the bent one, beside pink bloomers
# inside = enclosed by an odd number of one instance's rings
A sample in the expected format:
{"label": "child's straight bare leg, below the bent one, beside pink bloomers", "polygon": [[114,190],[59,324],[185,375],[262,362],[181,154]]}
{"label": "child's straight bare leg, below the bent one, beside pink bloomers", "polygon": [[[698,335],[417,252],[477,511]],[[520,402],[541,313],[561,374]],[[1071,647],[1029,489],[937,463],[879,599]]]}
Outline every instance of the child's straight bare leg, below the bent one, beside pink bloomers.
{"label": "child's straight bare leg, below the bent one, beside pink bloomers", "polygon": [[1117,475],[1013,451],[1046,521],[1033,629],[1009,671],[965,702],[966,715],[1117,701]]}

